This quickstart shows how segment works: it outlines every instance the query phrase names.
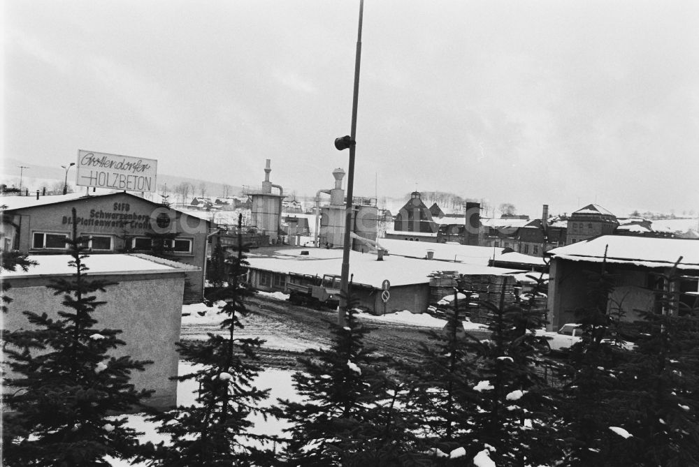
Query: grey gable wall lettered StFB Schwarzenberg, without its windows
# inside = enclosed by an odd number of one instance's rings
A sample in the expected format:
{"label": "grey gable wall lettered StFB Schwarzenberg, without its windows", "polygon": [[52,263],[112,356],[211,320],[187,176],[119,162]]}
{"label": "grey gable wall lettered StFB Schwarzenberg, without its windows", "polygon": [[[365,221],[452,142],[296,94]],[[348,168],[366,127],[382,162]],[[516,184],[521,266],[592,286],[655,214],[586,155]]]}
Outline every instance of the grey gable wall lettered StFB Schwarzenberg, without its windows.
{"label": "grey gable wall lettered StFB Schwarzenberg, without its windows", "polygon": [[200,272],[187,273],[187,280],[193,291],[189,302],[201,301],[204,287],[207,223],[194,216],[174,210],[168,211],[164,207],[127,193],[80,198],[55,205],[15,210],[15,223],[19,225],[20,251],[30,254],[64,253],[57,250],[32,249],[32,235],[34,232],[70,235],[73,207],[78,216],[78,235],[110,235],[113,239],[114,252],[124,251],[126,242],[123,238],[124,233],[130,237],[143,237],[146,233],[153,233],[155,232],[153,224],[156,223],[157,216],[168,213],[166,214],[169,216],[168,225],[159,230],[178,232],[179,235],[176,237],[178,239],[192,239],[191,252],[172,253],[171,259],[201,268]]}

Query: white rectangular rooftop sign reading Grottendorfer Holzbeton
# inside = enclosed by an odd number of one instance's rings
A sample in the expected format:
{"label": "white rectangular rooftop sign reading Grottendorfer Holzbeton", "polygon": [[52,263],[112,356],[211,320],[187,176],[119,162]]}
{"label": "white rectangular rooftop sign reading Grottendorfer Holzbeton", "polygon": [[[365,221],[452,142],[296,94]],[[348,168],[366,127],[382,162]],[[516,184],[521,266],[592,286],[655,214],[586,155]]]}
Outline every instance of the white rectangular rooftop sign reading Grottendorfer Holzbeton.
{"label": "white rectangular rooftop sign reading Grottendorfer Holzbeton", "polygon": [[158,161],[78,150],[75,184],[126,191],[157,191]]}

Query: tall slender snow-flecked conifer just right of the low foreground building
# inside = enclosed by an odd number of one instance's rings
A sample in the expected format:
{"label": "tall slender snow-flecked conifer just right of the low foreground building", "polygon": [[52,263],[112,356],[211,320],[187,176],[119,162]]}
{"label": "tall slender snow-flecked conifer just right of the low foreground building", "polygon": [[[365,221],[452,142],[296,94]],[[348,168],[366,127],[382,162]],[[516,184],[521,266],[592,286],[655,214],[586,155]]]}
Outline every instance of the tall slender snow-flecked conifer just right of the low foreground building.
{"label": "tall slender snow-flecked conifer just right of the low foreground building", "polygon": [[[238,217],[240,226],[242,216]],[[240,229],[239,229],[240,230]],[[263,466],[272,463],[266,444],[274,438],[250,432],[252,414],[265,417],[270,409],[261,408],[268,390],[259,390],[253,380],[261,371],[255,360],[261,339],[236,337],[243,329],[241,318],[249,314],[245,299],[252,291],[240,281],[247,261],[242,238],[238,235],[238,255],[231,264],[229,286],[214,299],[224,300],[220,334],[208,334],[203,342],[178,344],[182,359],[195,364],[194,371],[178,376],[178,381],[199,383],[196,404],[180,406],[153,415],[160,433],[171,437],[169,443],[154,446],[140,460],[149,466]]]}

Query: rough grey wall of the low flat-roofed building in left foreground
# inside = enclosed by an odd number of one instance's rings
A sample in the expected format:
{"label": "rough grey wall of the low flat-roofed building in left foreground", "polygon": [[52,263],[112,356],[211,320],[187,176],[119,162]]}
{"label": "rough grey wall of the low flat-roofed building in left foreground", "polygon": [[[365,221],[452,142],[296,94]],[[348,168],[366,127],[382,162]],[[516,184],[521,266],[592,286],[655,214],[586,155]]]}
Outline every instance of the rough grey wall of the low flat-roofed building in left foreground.
{"label": "rough grey wall of the low flat-roofed building in left foreground", "polygon": [[[85,260],[89,267],[89,258]],[[169,378],[178,376],[179,355],[175,342],[180,340],[182,320],[182,290],[185,285],[182,272],[168,274],[133,274],[129,276],[90,276],[91,279],[119,281],[108,286],[107,292],[96,292],[98,300],[107,303],[97,307],[92,316],[96,327],[122,329],[119,338],[126,342],[114,350],[115,357],[129,355],[132,359],[147,360],[145,371],[131,374],[131,383],[137,389],[155,390],[147,399],[149,406],[166,409],[175,406],[177,382]],[[46,288],[48,279],[8,279],[12,286],[8,295],[13,298],[8,313],[3,315],[4,329],[29,328],[22,311],[47,313],[58,317],[64,309],[62,296],[53,295]],[[8,375],[12,378],[12,375]]]}

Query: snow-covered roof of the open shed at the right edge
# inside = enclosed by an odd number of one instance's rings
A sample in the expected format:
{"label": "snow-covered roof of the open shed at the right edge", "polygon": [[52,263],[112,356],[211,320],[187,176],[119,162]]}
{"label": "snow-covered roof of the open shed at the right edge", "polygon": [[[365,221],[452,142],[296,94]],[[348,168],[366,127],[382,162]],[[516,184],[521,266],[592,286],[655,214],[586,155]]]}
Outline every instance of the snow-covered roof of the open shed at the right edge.
{"label": "snow-covered roof of the open shed at the right edge", "polygon": [[679,269],[699,269],[699,240],[603,235],[553,249],[553,258],[607,262],[644,267],[670,267],[682,256]]}

